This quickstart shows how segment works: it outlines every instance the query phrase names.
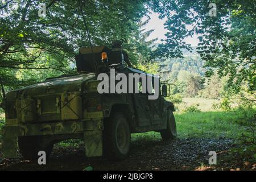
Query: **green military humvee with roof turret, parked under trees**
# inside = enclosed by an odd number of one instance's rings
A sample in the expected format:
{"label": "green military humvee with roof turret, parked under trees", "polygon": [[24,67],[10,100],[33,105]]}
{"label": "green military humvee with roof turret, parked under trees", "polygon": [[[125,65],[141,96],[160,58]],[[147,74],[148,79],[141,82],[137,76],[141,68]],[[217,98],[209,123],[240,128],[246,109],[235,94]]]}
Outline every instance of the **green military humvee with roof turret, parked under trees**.
{"label": "green military humvee with roof turret, parked under trees", "polygon": [[[108,55],[108,67],[102,63],[102,52]],[[54,143],[82,139],[86,156],[122,160],[129,152],[131,133],[158,131],[163,140],[175,138],[174,105],[164,100],[168,84],[159,82],[156,100],[148,100],[151,93],[97,92],[97,68],[108,74],[102,68],[115,65],[117,73],[148,75],[124,67],[122,60],[122,51],[105,46],[80,48],[77,75],[48,78],[8,92],[2,106],[6,114],[1,131],[3,155],[16,158],[19,147],[24,158],[36,159],[39,151],[49,156]]]}

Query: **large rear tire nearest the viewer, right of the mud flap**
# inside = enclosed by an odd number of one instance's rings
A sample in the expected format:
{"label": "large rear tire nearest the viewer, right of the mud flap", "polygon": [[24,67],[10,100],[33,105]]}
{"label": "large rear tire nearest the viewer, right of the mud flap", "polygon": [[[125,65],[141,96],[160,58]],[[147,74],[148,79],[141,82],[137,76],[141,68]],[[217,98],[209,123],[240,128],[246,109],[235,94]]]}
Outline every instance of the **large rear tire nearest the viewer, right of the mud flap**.
{"label": "large rear tire nearest the viewer, right of the mud flap", "polygon": [[110,160],[127,158],[131,133],[129,124],[122,113],[114,113],[109,121],[104,122],[104,156]]}

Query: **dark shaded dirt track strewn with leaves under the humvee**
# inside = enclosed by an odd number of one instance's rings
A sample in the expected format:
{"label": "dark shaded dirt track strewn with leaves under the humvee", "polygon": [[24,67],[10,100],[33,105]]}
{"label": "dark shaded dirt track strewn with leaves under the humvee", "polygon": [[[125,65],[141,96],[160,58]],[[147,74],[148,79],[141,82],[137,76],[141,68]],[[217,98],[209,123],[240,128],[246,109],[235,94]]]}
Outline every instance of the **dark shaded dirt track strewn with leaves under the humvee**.
{"label": "dark shaded dirt track strewn with leaves under the humvee", "polygon": [[[230,169],[243,165],[238,159],[233,164],[222,160],[226,151],[234,147],[230,139],[176,139],[170,142],[136,141],[132,143],[130,155],[121,162],[109,162],[103,158],[85,158],[83,146],[55,147],[47,165],[37,161],[0,161],[0,170],[82,170],[92,166],[94,170],[195,170]],[[209,151],[217,152],[217,166],[207,167]],[[1,159],[0,159],[1,160]],[[205,167],[202,167],[205,164]]]}

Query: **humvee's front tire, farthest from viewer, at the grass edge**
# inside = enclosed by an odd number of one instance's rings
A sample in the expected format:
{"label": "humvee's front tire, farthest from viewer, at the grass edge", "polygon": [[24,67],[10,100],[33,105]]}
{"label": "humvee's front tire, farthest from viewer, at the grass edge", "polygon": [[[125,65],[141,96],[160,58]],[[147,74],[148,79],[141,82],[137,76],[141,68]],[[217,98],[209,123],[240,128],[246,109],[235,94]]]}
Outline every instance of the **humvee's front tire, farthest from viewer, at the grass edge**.
{"label": "humvee's front tire, farthest from viewer, at the grass edge", "polygon": [[167,129],[160,131],[164,141],[175,139],[177,137],[176,122],[172,110],[167,111]]}

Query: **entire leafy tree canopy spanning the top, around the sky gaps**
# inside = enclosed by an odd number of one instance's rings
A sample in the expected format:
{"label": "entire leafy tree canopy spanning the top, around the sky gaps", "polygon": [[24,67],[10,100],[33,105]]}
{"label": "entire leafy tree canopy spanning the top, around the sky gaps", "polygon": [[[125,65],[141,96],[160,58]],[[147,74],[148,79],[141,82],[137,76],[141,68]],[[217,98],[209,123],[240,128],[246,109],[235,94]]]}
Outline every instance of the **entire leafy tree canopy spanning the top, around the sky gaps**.
{"label": "entire leafy tree canopy spanning the top, around the sky gaps", "polygon": [[[246,83],[255,90],[255,2],[214,0],[216,16],[209,16],[208,0],[9,0],[0,2],[0,73],[8,89],[46,77],[74,73],[77,49],[89,46],[79,4],[93,45],[110,46],[120,39],[134,65],[155,56],[179,58],[188,36],[199,35],[196,47],[205,61],[206,75],[217,72],[229,77],[229,86],[240,89]],[[40,17],[40,3],[46,16]],[[166,18],[166,39],[158,48],[147,37],[144,16],[150,11]],[[151,64],[151,63],[150,63]],[[155,65],[155,64],[152,64]]]}

